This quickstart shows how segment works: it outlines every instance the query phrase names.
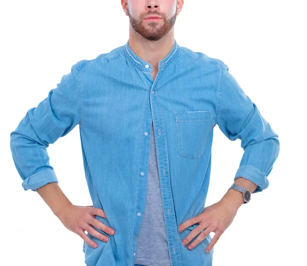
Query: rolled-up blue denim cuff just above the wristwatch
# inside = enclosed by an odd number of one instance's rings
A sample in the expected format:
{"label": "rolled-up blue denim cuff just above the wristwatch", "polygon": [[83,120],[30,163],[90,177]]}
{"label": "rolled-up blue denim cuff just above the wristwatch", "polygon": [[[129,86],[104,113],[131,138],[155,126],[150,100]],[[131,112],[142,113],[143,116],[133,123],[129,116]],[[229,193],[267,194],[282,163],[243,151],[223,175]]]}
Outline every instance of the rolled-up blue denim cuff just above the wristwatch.
{"label": "rolled-up blue denim cuff just above the wristwatch", "polygon": [[256,190],[253,193],[261,192],[263,189],[269,186],[269,180],[267,179],[266,173],[259,170],[259,168],[253,165],[242,165],[238,168],[234,180],[239,177],[248,179],[257,185]]}

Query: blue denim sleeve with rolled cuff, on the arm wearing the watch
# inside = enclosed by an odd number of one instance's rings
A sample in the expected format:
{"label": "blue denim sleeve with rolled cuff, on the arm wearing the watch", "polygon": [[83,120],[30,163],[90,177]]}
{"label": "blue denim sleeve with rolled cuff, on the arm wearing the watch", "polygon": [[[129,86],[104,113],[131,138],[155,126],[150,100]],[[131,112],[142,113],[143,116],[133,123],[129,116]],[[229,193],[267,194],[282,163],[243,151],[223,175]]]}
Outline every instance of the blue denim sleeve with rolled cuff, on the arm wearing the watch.
{"label": "blue denim sleeve with rolled cuff, on the arm wearing the watch", "polygon": [[267,179],[279,154],[278,135],[260,114],[225,65],[222,68],[215,124],[230,140],[241,140],[244,149],[234,180],[239,177],[257,185],[253,193],[269,186]]}

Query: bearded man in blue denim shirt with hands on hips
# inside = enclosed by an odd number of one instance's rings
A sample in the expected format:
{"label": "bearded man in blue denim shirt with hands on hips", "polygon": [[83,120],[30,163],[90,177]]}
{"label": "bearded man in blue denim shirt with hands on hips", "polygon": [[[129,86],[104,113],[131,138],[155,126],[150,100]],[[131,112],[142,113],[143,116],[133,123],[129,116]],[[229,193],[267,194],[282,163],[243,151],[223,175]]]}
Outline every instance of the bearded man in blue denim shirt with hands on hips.
{"label": "bearded man in blue denim shirt with hands on hips", "polygon": [[[121,4],[128,41],[78,61],[27,112],[11,133],[15,166],[84,240],[86,265],[210,266],[237,209],[268,187],[278,135],[222,60],[174,39],[183,0]],[[77,125],[93,206],[65,197],[47,153]],[[244,155],[234,184],[204,208],[216,125]]]}

